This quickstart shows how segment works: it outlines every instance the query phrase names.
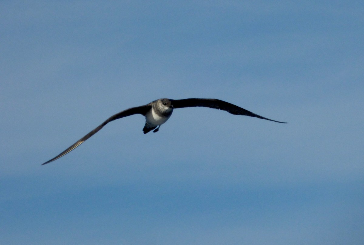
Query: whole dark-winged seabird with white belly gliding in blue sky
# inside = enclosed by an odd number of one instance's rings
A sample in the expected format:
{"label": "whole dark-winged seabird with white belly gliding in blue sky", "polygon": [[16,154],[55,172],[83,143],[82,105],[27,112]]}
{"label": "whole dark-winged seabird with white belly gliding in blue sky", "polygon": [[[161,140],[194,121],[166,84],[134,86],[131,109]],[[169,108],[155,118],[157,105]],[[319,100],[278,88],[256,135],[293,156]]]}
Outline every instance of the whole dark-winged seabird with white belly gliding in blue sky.
{"label": "whole dark-winged seabird with white belly gliding in blue sky", "polygon": [[[80,138],[75,144],[68,147],[58,156],[55,156],[49,161],[44,162],[42,165],[50,163],[54,160],[57,160],[60,157],[63,157],[71,150],[75,149],[77,146],[85,142],[88,138],[92,135],[97,133],[100,129],[103,128],[106,124],[114,121],[116,119],[127,117],[135,114],[141,114],[145,116],[145,126],[143,128],[143,132],[146,134],[153,130],[153,132],[158,132],[159,127],[165,123],[169,117],[172,115],[173,109],[176,108],[184,108],[184,107],[209,107],[214,109],[219,109],[223,111],[227,111],[233,115],[242,115],[242,116],[250,116],[250,117],[257,117],[260,119],[265,119],[277,123],[284,123],[272,119],[268,119],[266,117],[259,116],[253,112],[247,111],[237,105],[233,105],[226,101],[218,100],[218,99],[183,99],[183,100],[171,100],[171,99],[159,99],[152,101],[149,104],[142,105],[139,107],[132,107],[126,109],[122,112],[116,113],[115,115],[109,117],[106,121],[100,124],[97,128],[92,130],[90,133],[86,134],[82,138]],[[158,128],[157,128],[158,126]]]}

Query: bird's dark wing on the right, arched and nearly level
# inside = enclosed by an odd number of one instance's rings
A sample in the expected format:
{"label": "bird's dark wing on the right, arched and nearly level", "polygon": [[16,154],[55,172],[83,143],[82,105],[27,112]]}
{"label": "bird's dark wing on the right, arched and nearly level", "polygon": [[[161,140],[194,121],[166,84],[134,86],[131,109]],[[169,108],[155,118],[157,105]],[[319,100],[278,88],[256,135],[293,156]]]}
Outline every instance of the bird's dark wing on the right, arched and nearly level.
{"label": "bird's dark wing on the right, arched and nearly level", "polygon": [[258,117],[260,119],[265,119],[277,123],[284,123],[276,120],[272,120],[266,117],[259,116],[253,112],[247,111],[237,105],[233,105],[226,101],[218,99],[184,99],[184,100],[170,100],[172,102],[173,108],[183,108],[183,107],[209,107],[215,108],[223,111],[227,111],[234,115]]}

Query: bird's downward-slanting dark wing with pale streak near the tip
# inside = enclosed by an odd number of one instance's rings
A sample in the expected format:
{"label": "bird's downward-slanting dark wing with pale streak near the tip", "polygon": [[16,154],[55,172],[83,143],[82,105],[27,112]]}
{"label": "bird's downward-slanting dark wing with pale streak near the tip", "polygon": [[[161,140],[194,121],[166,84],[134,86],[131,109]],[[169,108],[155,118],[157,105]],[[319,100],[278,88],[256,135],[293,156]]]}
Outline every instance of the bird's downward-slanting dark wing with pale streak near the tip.
{"label": "bird's downward-slanting dark wing with pale streak near the tip", "polygon": [[110,123],[111,121],[114,121],[114,120],[119,119],[119,118],[122,118],[122,117],[131,116],[131,115],[134,115],[134,114],[142,114],[143,116],[145,116],[146,113],[149,111],[149,109],[150,109],[150,105],[147,104],[147,105],[142,105],[140,107],[129,108],[129,109],[126,109],[125,111],[116,113],[114,116],[109,117],[106,121],[104,121],[102,124],[100,124],[94,130],[92,130],[90,133],[88,133],[85,136],[83,136],[82,138],[80,138],[75,144],[73,144],[70,147],[68,147],[66,150],[64,150],[62,153],[60,153],[58,156],[52,158],[49,161],[44,162],[42,165],[47,164],[47,163],[50,163],[50,162],[52,162],[54,160],[57,160],[60,157],[63,157],[68,152],[70,152],[71,150],[75,149],[77,146],[79,146],[80,144],[82,144],[85,140],[87,140],[88,138],[90,138],[92,135],[94,135],[95,133],[97,133],[100,129],[103,128],[103,126],[105,126],[106,124]]}

